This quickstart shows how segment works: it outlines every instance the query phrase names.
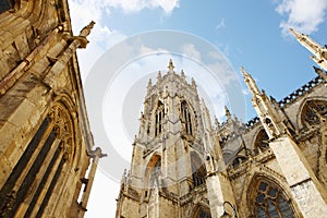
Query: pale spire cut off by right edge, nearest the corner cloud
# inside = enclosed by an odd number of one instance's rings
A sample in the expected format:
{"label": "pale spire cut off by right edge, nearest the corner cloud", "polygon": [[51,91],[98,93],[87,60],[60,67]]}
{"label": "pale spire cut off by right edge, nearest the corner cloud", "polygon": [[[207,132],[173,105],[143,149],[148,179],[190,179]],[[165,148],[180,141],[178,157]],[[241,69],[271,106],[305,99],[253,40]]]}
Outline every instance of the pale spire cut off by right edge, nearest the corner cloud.
{"label": "pale spire cut off by right edge, nearest the corner cloud", "polygon": [[327,71],[327,48],[322,47],[315,40],[310,38],[307,35],[295,32],[290,28],[290,32],[295,36],[296,40],[305,47],[310,52],[313,53],[311,57],[320,68]]}

